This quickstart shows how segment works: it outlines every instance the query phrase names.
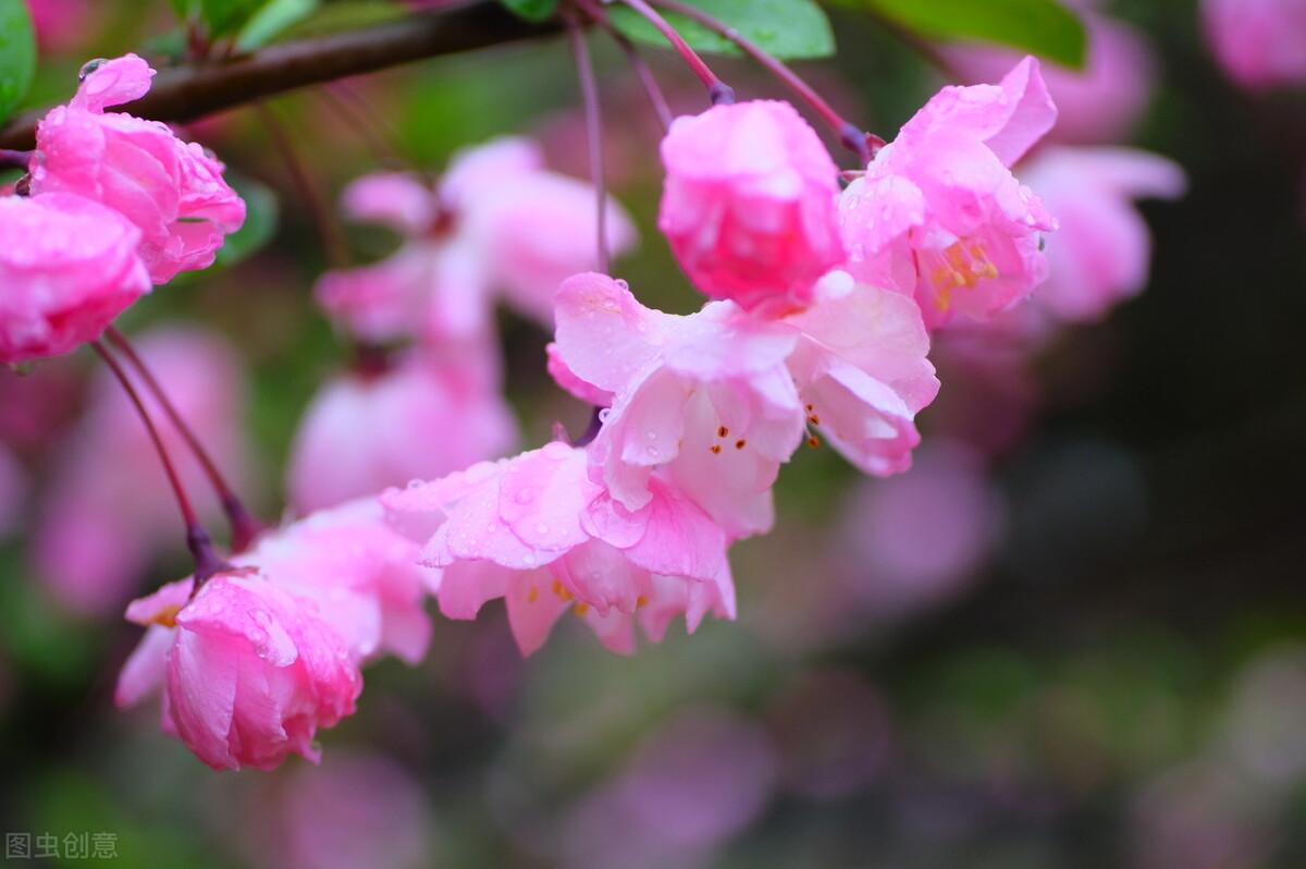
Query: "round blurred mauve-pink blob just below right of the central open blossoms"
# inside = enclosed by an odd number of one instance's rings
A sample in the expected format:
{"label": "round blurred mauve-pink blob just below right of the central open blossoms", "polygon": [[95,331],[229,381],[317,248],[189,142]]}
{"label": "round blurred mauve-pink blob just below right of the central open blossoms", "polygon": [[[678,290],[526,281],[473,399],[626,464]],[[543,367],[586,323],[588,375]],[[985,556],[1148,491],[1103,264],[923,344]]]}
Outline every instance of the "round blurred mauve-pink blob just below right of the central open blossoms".
{"label": "round blurred mauve-pink blob just below right of the central open blossoms", "polygon": [[844,511],[846,582],[879,618],[899,618],[960,592],[998,541],[1003,503],[983,460],[935,439],[910,473],[861,485]]}

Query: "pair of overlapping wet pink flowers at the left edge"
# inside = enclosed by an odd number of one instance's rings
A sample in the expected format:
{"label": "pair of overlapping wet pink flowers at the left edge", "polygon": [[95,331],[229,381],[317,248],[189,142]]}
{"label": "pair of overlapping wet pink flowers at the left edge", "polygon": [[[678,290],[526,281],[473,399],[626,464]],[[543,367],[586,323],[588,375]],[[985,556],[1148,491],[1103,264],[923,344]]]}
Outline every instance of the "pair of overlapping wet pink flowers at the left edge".
{"label": "pair of overlapping wet pink flowers at the left edge", "polygon": [[0,362],[68,353],[180,271],[208,268],[244,203],[222,163],[108,106],[144,95],[136,55],[93,61],[37,127],[29,196],[0,197]]}

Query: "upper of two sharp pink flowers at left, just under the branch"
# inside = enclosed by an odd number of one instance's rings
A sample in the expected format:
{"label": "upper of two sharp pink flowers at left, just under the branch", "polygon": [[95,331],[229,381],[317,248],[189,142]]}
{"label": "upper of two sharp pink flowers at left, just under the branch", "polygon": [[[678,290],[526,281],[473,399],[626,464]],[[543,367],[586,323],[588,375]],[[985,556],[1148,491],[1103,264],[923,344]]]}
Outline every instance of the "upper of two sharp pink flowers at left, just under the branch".
{"label": "upper of two sharp pink flowers at left, just under the branch", "polygon": [[142,233],[150,280],[163,284],[212,265],[246,208],[200,145],[166,124],[104,111],[145,95],[153,74],[131,54],[98,61],[77,95],[37,127],[31,192],[78,193],[120,212]]}

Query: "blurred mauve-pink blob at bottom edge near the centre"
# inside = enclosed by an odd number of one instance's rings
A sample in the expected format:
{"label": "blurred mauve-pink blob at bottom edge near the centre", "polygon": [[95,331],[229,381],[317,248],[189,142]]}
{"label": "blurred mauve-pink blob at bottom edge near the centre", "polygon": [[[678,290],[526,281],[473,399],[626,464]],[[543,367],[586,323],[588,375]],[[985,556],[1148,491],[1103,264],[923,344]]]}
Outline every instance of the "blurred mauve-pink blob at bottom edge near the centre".
{"label": "blurred mauve-pink blob at bottom edge near the centre", "polygon": [[683,712],[592,792],[564,828],[564,865],[708,865],[765,812],[776,785],[767,733],[733,712]]}

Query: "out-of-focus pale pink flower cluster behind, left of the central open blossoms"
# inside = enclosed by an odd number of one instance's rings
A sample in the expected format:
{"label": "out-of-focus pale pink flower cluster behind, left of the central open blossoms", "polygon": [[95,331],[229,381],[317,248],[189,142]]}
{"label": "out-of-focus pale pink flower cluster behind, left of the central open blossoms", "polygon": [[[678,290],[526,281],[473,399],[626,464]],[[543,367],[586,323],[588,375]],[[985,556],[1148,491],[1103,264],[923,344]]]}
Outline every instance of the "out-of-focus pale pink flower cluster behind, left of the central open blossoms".
{"label": "out-of-focus pale pink flower cluster behind, left of the central open blossoms", "polygon": [[[458,154],[435,188],[415,175],[370,175],[342,200],[346,216],[405,242],[317,284],[328,315],[383,363],[340,376],[310,406],[289,470],[300,511],[509,450],[517,434],[502,397],[494,302],[549,325],[558,285],[594,261],[594,189],[547,171],[524,139]],[[626,251],[633,225],[615,201],[609,209],[607,243]],[[377,346],[394,342],[413,346],[384,359]]]}

